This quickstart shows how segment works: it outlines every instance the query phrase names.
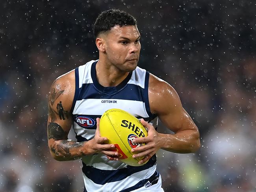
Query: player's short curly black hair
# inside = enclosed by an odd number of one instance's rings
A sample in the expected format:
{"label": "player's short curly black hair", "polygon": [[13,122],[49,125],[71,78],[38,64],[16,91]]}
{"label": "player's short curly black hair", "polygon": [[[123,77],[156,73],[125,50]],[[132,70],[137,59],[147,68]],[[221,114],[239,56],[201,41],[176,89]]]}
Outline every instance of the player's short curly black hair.
{"label": "player's short curly black hair", "polygon": [[120,27],[123,25],[136,25],[136,20],[132,15],[117,9],[103,11],[96,18],[93,29],[94,37],[96,38],[100,33],[109,31],[116,25]]}

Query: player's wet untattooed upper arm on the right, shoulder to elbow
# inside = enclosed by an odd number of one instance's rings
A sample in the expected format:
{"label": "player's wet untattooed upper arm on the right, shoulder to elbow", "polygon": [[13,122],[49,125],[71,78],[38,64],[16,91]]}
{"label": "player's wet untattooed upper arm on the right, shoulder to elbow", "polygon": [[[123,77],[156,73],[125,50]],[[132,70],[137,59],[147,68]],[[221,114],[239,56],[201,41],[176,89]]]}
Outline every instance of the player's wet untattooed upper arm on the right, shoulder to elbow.
{"label": "player's wet untattooed upper arm on the right, shoulder to elbow", "polygon": [[158,87],[157,90],[155,88],[149,89],[148,95],[152,113],[156,113],[161,122],[174,133],[187,129],[197,130],[197,126],[182,107],[180,98],[173,87],[159,79],[152,81],[154,87]]}

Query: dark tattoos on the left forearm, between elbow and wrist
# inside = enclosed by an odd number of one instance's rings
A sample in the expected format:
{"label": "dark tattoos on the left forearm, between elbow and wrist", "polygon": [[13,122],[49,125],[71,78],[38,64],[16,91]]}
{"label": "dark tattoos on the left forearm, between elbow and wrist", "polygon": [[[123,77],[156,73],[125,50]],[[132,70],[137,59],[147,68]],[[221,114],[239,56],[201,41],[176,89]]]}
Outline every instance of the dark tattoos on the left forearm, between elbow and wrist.
{"label": "dark tattoos on the left forearm, between elbow and wrist", "polygon": [[79,148],[83,146],[84,142],[75,142],[75,141],[70,141],[70,140],[61,140],[60,143],[54,144],[54,146],[50,146],[51,151],[55,153],[56,155],[61,155],[66,159],[80,159],[81,156],[85,155],[83,151],[80,151],[80,153],[77,153],[72,156],[70,153],[70,148]]}

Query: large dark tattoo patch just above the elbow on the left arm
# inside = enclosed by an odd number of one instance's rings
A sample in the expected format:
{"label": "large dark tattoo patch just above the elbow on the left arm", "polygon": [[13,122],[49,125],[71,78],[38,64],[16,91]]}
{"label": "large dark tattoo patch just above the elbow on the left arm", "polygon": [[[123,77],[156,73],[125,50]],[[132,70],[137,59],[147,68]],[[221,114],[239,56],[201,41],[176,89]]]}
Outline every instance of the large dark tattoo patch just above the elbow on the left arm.
{"label": "large dark tattoo patch just above the elbow on the left arm", "polygon": [[47,127],[48,139],[53,138],[54,140],[66,139],[67,135],[62,127],[54,122],[50,122]]}

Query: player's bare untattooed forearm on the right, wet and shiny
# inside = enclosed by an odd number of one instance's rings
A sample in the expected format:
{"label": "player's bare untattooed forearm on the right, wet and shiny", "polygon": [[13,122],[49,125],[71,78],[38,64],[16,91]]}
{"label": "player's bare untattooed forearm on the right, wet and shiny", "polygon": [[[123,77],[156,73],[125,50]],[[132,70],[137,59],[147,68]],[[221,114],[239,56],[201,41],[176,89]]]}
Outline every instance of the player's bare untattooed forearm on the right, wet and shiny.
{"label": "player's bare untattooed forearm on the right, wet and shiny", "polygon": [[179,131],[174,135],[161,134],[163,150],[173,153],[195,153],[200,148],[197,130]]}

